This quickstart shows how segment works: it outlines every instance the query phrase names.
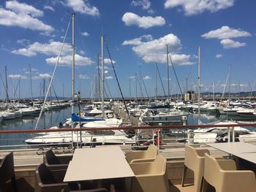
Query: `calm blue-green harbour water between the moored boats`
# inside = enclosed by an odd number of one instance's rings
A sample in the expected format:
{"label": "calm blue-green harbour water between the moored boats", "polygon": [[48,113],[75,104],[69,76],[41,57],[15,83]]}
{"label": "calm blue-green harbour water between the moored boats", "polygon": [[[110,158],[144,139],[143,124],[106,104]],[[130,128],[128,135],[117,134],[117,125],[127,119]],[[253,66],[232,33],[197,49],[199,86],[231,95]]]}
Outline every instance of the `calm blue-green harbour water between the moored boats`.
{"label": "calm blue-green harbour water between the moored boats", "polygon": [[[78,107],[75,107],[75,112],[78,112]],[[64,123],[67,118],[70,118],[71,107],[66,107],[61,110],[51,110],[45,112],[42,115],[41,120],[39,120],[38,128],[50,128],[51,126],[59,126],[59,123]],[[15,120],[4,120],[0,123],[1,130],[34,130],[36,126],[38,117],[23,117]],[[236,117],[231,117],[233,120],[244,120],[235,119]],[[216,117],[214,115],[201,114],[200,121],[202,123],[214,123],[221,120],[227,120],[226,116]],[[252,121],[247,121],[248,123],[253,123]],[[245,123],[244,121],[241,123]],[[256,123],[256,121],[254,121]],[[198,124],[198,115],[191,114],[188,116],[188,125]],[[254,130],[255,127],[250,127]],[[1,145],[26,145],[25,139],[34,137],[33,134],[0,134],[0,150],[6,147],[1,147]]]}

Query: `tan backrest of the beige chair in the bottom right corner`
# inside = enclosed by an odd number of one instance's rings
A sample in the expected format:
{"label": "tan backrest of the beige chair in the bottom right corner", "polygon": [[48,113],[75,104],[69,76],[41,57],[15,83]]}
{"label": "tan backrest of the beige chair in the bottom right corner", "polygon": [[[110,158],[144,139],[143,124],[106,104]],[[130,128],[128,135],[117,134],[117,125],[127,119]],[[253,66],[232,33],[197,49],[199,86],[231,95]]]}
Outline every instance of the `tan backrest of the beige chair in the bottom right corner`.
{"label": "tan backrest of the beige chair in the bottom right corner", "polygon": [[217,160],[206,153],[204,179],[212,186],[219,185],[219,180],[222,179],[221,170]]}

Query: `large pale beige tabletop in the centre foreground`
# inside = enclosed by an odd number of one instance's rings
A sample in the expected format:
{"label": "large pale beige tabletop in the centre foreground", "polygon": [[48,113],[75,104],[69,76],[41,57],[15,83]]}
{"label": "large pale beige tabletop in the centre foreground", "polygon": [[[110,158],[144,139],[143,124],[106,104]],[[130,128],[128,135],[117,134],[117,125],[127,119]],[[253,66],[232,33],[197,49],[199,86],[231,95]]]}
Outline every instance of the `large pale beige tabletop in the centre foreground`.
{"label": "large pale beige tabletop in the centre foreground", "polygon": [[64,182],[135,177],[120,147],[76,149]]}

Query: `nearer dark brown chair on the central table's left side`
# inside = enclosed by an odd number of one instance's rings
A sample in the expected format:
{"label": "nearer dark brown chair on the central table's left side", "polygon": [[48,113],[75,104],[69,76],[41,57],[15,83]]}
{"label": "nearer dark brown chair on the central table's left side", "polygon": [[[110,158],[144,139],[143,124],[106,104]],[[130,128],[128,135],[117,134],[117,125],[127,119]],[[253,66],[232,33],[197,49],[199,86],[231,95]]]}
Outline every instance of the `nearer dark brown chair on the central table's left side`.
{"label": "nearer dark brown chair on the central table's left side", "polygon": [[40,164],[36,169],[36,183],[34,191],[61,191],[63,188],[69,190],[68,183],[63,183],[65,173],[66,169],[56,169],[50,171],[48,166],[45,164]]}

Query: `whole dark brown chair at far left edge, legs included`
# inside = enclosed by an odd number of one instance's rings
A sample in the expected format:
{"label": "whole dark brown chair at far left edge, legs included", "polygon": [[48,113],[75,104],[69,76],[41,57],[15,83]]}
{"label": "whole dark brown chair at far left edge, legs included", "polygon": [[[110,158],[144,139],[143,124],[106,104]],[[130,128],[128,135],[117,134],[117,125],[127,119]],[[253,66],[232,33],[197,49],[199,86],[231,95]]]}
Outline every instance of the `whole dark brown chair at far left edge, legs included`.
{"label": "whole dark brown chair at far left edge, legs included", "polygon": [[12,187],[14,191],[17,191],[12,152],[5,155],[0,162],[0,191],[5,191],[4,188],[9,180],[12,180]]}

